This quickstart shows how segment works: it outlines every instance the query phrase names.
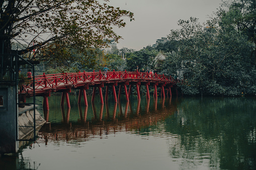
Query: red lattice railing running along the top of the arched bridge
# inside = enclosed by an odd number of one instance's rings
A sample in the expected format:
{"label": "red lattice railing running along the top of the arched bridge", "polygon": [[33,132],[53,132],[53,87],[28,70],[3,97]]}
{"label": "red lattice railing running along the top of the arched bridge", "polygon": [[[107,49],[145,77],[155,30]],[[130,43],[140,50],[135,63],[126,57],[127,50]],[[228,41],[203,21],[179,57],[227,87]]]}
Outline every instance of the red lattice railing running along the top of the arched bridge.
{"label": "red lattice railing running along the top of the arched bridge", "polygon": [[[175,83],[175,80],[170,76],[150,74],[142,72],[127,72],[127,71],[108,71],[102,72],[78,72],[78,73],[59,73],[59,74],[48,74],[34,76],[35,79],[35,90],[43,90],[50,88],[57,88],[58,86],[69,86],[84,84],[86,82],[99,82],[109,80],[161,80],[170,81]],[[33,91],[33,81],[27,81],[22,84],[20,93],[29,93]]]}

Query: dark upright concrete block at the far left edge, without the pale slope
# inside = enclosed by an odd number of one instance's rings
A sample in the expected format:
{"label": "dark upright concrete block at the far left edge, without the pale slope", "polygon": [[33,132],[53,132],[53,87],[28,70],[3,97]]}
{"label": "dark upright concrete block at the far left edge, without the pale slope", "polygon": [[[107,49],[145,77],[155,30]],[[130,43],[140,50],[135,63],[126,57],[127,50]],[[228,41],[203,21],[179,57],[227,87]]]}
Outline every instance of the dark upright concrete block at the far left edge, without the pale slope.
{"label": "dark upright concrete block at the far left edge, without the pale slope", "polygon": [[0,85],[0,154],[18,151],[17,93],[15,85]]}

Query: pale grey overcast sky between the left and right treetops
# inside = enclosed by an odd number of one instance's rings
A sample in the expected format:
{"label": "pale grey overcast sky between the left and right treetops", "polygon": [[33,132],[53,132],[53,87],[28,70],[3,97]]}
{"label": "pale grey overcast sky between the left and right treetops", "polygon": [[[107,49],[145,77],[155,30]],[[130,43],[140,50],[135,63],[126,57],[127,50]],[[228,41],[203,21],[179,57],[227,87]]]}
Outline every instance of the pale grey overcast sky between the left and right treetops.
{"label": "pale grey overcast sky between the left and right treetops", "polygon": [[221,0],[109,0],[113,7],[134,13],[135,21],[126,20],[126,27],[114,29],[122,36],[118,49],[140,50],[167,37],[172,29],[179,29],[177,22],[196,17],[200,23],[209,20],[220,7]]}

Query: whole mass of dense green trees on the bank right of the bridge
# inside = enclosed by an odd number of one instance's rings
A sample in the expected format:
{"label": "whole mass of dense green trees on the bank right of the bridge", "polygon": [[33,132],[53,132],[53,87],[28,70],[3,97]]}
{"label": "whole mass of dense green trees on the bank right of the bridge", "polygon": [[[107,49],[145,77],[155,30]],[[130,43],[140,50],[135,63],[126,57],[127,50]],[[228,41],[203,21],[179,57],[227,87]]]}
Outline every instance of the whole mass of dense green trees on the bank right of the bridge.
{"label": "whole mass of dense green trees on the bank right of the bridge", "polygon": [[237,0],[223,3],[205,24],[180,20],[181,29],[168,35],[176,53],[168,55],[162,69],[186,70],[184,94],[255,94],[255,19],[256,2]]}

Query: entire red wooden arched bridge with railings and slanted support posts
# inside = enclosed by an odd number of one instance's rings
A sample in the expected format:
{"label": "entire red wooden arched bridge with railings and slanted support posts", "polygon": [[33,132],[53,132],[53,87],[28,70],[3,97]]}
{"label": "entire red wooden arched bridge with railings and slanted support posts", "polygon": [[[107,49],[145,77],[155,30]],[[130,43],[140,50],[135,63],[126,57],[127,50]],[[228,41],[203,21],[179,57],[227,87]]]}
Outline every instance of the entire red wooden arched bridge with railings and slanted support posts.
{"label": "entire red wooden arched bridge with railings and slanted support posts", "polygon": [[[35,83],[34,86],[33,83]],[[115,86],[117,85],[120,86],[118,98],[115,90]],[[129,92],[127,92],[126,85],[130,85]],[[33,88],[35,88],[35,95],[44,97],[43,106],[46,110],[49,110],[47,97],[50,96],[51,92],[62,92],[61,105],[64,104],[64,99],[66,97],[67,107],[70,108],[68,93],[71,92],[71,89],[79,89],[78,103],[80,103],[83,94],[84,104],[88,106],[86,90],[89,89],[89,87],[94,88],[92,102],[95,100],[95,93],[98,87],[101,103],[104,104],[102,87],[106,86],[105,100],[108,100],[109,86],[111,86],[113,89],[114,100],[115,102],[118,102],[118,99],[121,96],[122,87],[124,87],[126,100],[129,101],[132,85],[136,86],[138,99],[140,99],[141,85],[146,86],[147,98],[150,98],[149,85],[154,86],[154,97],[157,97],[157,87],[161,88],[163,97],[165,97],[164,87],[167,89],[167,95],[172,96],[171,88],[175,88],[177,94],[176,81],[170,76],[115,70],[101,72],[100,70],[99,72],[83,71],[78,73],[43,74],[34,76],[33,81],[20,85],[19,98],[22,98],[23,102],[26,102],[26,97],[34,95]]]}

